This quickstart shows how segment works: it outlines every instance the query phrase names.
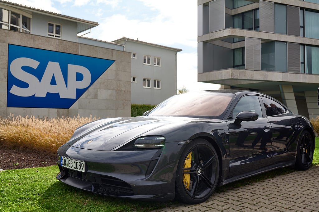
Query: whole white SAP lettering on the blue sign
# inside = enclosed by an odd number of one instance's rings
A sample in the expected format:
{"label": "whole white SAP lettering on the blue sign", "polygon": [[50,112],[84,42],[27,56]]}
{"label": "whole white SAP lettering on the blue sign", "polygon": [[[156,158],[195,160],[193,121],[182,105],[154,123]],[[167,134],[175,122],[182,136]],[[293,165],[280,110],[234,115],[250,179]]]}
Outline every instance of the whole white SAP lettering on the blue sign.
{"label": "whole white SAP lettering on the blue sign", "polygon": [[[45,97],[47,93],[59,93],[60,98],[76,99],[76,89],[86,88],[91,83],[90,71],[80,65],[68,64],[68,86],[66,87],[65,81],[61,72],[59,63],[48,62],[45,69],[41,82],[32,74],[22,70],[23,66],[29,66],[36,69],[40,63],[31,58],[17,58],[14,59],[10,64],[11,74],[29,84],[27,88],[21,88],[13,85],[10,89],[10,93],[17,96],[32,96],[35,94],[36,97]],[[83,79],[77,81],[77,73],[82,74]],[[52,78],[55,78],[56,85],[51,85]]]}

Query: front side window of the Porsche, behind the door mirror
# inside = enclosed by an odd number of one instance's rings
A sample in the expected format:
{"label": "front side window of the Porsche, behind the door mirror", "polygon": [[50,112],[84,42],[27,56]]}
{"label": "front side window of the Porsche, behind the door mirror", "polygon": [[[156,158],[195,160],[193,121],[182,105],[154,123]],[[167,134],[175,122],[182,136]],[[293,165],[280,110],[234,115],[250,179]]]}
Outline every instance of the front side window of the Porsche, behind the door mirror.
{"label": "front side window of the Porsche, behind the door mirror", "polygon": [[238,113],[243,111],[255,112],[258,113],[258,117],[262,117],[263,115],[258,96],[249,95],[242,97],[236,104],[233,114],[229,119],[235,119]]}

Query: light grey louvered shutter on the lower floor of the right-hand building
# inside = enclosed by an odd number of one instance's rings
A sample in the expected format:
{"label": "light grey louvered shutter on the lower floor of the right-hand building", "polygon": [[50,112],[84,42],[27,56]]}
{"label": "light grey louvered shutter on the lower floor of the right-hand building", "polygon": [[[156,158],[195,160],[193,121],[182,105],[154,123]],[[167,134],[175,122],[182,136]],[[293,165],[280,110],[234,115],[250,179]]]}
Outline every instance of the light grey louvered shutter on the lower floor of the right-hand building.
{"label": "light grey louvered shutter on the lower floor of the right-hand building", "polygon": [[245,38],[245,69],[260,70],[260,39]]}

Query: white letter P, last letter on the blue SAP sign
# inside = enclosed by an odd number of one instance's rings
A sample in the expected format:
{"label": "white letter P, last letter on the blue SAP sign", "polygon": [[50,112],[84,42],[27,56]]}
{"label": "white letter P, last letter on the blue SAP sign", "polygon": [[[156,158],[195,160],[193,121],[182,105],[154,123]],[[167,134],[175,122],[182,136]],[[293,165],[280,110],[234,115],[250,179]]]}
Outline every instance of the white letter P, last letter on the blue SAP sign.
{"label": "white letter P, last letter on the blue SAP sign", "polygon": [[[81,81],[77,81],[77,73],[83,75]],[[86,88],[91,83],[91,73],[90,71],[81,65],[68,64],[68,93],[64,98],[75,99],[76,89]]]}

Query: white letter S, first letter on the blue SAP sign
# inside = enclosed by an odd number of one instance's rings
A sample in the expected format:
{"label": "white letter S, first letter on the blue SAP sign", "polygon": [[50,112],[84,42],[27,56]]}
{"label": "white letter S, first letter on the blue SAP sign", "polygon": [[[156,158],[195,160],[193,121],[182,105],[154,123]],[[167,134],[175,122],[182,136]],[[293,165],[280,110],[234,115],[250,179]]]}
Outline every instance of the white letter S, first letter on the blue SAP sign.
{"label": "white letter S, first letter on the blue SAP sign", "polygon": [[29,66],[35,70],[39,64],[40,63],[38,61],[33,60],[31,58],[14,59],[10,64],[11,74],[15,78],[26,82],[27,84],[29,84],[29,86],[27,88],[20,88],[16,85],[13,85],[9,92],[13,93],[14,95],[24,96],[24,97],[34,95],[38,90],[40,82],[39,82],[38,78],[36,78],[32,74],[23,71],[22,67]]}

